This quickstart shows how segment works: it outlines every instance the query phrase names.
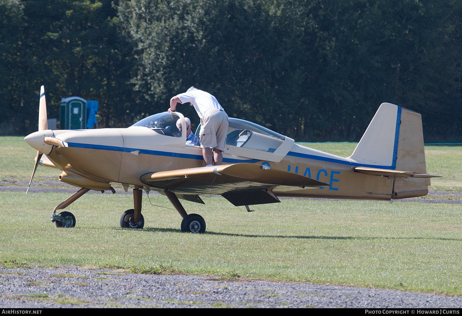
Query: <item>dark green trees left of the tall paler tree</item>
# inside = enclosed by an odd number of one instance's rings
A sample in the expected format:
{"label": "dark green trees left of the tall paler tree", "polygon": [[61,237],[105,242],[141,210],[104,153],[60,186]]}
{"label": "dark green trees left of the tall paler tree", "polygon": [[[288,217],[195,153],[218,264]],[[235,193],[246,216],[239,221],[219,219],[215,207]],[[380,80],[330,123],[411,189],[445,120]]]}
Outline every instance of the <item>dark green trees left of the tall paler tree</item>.
{"label": "dark green trees left of the tall paler tree", "polygon": [[59,117],[61,97],[77,95],[100,101],[101,125],[124,124],[131,49],[116,13],[108,1],[0,0],[3,134],[37,130],[40,85],[49,117]]}

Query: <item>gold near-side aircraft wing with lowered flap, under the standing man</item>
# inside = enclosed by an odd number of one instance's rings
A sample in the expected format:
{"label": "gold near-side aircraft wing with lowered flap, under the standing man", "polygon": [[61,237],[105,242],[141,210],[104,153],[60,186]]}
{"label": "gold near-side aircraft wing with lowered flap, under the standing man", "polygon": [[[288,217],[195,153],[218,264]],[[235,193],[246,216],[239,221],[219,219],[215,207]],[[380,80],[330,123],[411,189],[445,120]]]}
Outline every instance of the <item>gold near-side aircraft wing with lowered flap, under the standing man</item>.
{"label": "gold near-side aircraft wing with lowered flap, under the standing man", "polygon": [[235,206],[279,202],[274,188],[329,186],[293,172],[249,163],[152,172],[140,180],[175,194],[221,194]]}

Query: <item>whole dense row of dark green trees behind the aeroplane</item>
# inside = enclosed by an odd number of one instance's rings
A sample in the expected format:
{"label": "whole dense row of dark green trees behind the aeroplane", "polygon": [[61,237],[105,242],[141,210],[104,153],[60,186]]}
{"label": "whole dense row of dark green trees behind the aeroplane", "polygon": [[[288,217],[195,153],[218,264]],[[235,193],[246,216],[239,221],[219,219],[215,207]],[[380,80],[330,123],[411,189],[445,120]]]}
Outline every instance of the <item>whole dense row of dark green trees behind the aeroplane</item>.
{"label": "whole dense row of dark green trees behind the aeroplane", "polygon": [[0,14],[4,134],[36,129],[41,84],[51,116],[61,97],[100,101],[101,127],[195,85],[296,140],[359,140],[383,102],[422,113],[426,141],[462,139],[460,1],[0,0]]}

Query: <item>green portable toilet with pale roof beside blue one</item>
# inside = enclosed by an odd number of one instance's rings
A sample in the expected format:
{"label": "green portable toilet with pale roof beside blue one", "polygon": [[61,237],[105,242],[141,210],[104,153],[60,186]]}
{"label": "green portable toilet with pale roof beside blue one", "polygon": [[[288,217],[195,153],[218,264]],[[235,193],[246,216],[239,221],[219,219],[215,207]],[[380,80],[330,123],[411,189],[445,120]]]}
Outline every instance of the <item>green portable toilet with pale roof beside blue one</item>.
{"label": "green portable toilet with pale roof beside blue one", "polygon": [[59,116],[61,129],[85,129],[86,100],[81,97],[62,98]]}

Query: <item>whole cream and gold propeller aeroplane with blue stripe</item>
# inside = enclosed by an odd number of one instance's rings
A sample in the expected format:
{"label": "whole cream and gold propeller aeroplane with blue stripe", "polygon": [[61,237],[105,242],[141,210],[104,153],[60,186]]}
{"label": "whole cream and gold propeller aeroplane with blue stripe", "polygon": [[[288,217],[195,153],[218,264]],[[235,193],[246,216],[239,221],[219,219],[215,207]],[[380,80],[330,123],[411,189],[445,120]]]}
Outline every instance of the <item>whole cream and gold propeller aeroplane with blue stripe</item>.
{"label": "whole cream and gold propeller aeroplane with blue stripe", "polygon": [[188,215],[179,199],[204,204],[200,194],[219,194],[248,211],[249,205],[277,203],[279,197],[390,201],[426,195],[430,178],[436,177],[426,173],[421,115],[390,103],[380,105],[347,158],[230,118],[224,164],[211,167],[205,167],[199,146],[185,145],[181,113],[151,115],[129,128],[52,131],[43,86],[39,104],[39,131],[25,137],[37,150],[30,182],[41,164],[60,170],[60,181],[80,188],[55,207],[51,220],[57,227],[75,225],[72,213],[56,215],[57,210],[89,190],[115,193],[112,184],[133,189],[134,208],[122,214],[121,227],[143,228],[142,190],[154,190],[182,216],[182,231],[204,232],[204,219]]}

